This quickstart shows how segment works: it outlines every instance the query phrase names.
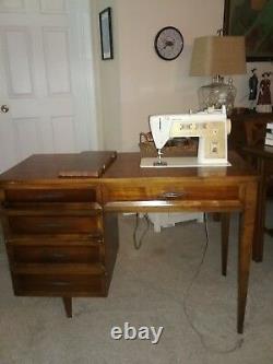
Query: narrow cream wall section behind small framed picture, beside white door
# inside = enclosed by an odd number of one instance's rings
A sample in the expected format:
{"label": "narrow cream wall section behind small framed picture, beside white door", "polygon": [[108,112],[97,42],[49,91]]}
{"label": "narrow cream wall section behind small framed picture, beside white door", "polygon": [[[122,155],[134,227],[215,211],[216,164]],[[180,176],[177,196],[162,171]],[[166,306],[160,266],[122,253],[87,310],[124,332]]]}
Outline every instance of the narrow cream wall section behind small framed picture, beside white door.
{"label": "narrow cream wall section behind small framed picture, beside white door", "polygon": [[[114,59],[102,60],[98,14],[105,8],[111,8]],[[97,118],[100,136],[100,150],[121,150],[121,96],[120,96],[120,62],[118,36],[118,1],[91,0],[93,47],[96,69]]]}

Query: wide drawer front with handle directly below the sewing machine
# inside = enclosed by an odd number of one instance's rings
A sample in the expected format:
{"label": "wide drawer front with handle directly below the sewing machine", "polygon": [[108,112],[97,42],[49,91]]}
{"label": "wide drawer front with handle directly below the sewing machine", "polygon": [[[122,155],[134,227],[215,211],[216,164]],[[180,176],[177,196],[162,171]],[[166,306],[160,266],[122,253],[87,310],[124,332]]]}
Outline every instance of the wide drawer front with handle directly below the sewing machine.
{"label": "wide drawer front with handle directly below the sewing machine", "polygon": [[149,200],[237,200],[238,186],[214,186],[209,184],[109,184],[104,186],[104,200],[149,201]]}

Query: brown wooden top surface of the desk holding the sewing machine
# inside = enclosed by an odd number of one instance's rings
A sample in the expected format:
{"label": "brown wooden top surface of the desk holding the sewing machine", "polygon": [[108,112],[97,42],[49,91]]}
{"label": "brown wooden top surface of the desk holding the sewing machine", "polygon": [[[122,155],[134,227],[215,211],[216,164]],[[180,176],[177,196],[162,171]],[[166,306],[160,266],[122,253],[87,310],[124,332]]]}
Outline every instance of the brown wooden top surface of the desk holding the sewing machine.
{"label": "brown wooden top surface of the desk holding the sewing machine", "polygon": [[[116,157],[116,160],[115,160]],[[257,173],[236,152],[230,152],[232,166],[141,168],[140,153],[85,152],[78,154],[35,154],[0,175],[0,187],[13,183],[96,183],[128,178],[157,178],[182,180],[186,178],[253,179]],[[110,163],[109,163],[110,161]],[[108,164],[107,164],[108,163]],[[106,165],[107,164],[107,165]],[[104,168],[103,168],[104,166]],[[103,169],[102,169],[103,168]],[[70,174],[69,172],[76,172]],[[91,173],[94,171],[94,175]],[[103,172],[102,172],[103,171]],[[60,172],[64,172],[60,178]],[[90,172],[88,174],[86,172]],[[82,175],[81,175],[82,173]]]}

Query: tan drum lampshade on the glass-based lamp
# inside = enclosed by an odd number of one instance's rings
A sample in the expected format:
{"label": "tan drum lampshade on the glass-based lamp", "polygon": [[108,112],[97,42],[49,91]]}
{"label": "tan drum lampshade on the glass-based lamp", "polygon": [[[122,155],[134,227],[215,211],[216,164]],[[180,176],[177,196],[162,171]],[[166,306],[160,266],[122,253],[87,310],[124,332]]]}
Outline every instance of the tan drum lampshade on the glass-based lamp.
{"label": "tan drum lampshade on the glass-based lamp", "polygon": [[191,75],[246,73],[244,36],[203,36],[194,39]]}

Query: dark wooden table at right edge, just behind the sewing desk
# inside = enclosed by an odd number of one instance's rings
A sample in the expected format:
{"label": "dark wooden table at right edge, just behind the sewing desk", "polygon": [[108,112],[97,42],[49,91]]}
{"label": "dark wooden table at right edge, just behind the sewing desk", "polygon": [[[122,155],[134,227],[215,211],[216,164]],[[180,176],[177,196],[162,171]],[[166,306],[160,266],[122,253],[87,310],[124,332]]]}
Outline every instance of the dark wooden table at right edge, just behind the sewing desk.
{"label": "dark wooden table at right edge, just behind the sewing desk", "polygon": [[246,146],[244,152],[254,157],[257,161],[257,169],[260,174],[260,183],[258,188],[256,228],[253,237],[253,259],[262,261],[263,259],[263,238],[264,238],[264,220],[266,206],[266,188],[270,175],[273,169],[273,146]]}

